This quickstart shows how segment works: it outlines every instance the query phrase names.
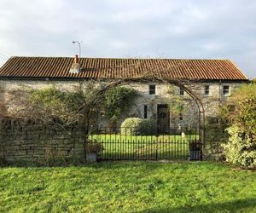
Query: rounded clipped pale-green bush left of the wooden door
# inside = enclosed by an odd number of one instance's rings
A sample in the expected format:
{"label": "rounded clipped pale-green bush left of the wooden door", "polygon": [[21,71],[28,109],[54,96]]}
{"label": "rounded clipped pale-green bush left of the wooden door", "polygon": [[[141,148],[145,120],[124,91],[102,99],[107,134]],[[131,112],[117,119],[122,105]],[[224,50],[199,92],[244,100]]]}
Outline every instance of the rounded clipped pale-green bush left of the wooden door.
{"label": "rounded clipped pale-green bush left of the wooden door", "polygon": [[122,135],[149,135],[152,127],[147,119],[126,118],[121,124]]}

